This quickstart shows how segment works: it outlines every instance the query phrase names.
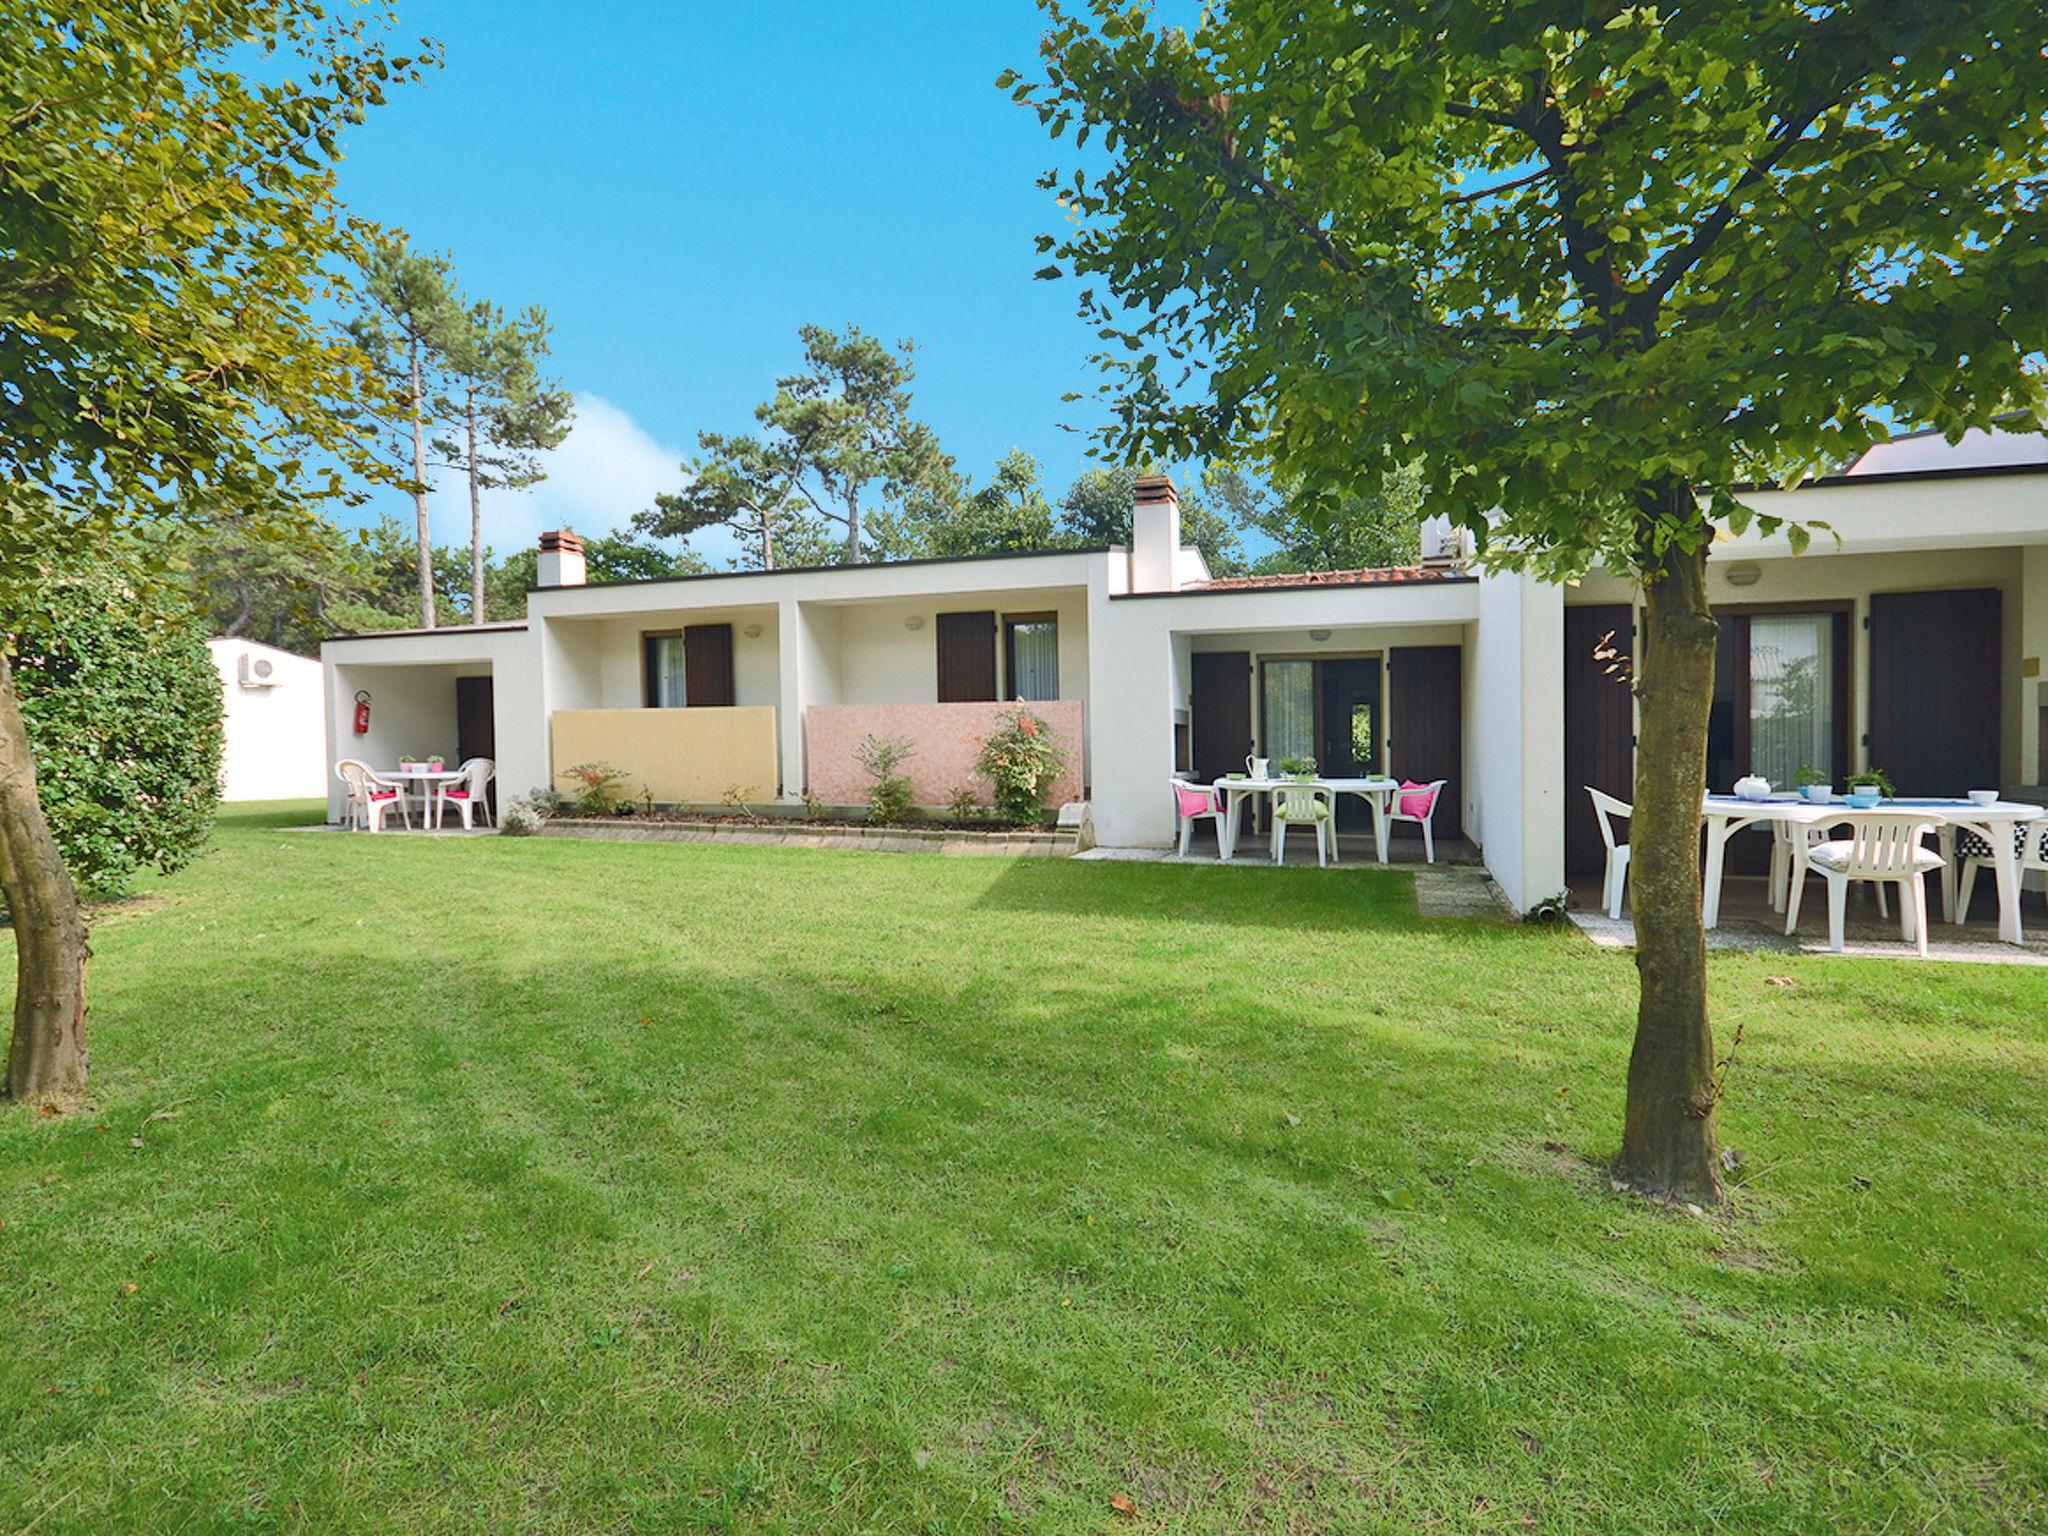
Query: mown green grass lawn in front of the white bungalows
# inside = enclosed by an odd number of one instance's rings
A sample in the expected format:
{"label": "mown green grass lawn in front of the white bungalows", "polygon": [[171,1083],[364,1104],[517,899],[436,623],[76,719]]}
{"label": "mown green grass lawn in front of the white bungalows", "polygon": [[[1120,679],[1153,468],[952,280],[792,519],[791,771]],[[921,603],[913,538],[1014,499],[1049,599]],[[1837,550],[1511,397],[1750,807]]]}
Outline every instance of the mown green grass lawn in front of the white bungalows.
{"label": "mown green grass lawn in front of the white bungalows", "polygon": [[1690,1219],[1628,958],[1399,872],[291,819],[0,1110],[0,1530],[2048,1524],[2038,971],[1716,958]]}

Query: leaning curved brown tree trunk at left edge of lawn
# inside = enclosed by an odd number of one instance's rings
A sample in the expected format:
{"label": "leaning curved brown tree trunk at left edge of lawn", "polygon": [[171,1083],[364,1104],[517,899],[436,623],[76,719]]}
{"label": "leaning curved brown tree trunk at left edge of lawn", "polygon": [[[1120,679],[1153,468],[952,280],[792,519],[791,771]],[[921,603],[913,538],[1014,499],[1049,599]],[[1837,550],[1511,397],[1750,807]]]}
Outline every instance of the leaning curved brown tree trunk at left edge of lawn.
{"label": "leaning curved brown tree trunk at left edge of lawn", "polygon": [[86,913],[35,791],[29,723],[0,651],[0,889],[14,924],[14,1036],[6,1092],[68,1104],[86,1092]]}

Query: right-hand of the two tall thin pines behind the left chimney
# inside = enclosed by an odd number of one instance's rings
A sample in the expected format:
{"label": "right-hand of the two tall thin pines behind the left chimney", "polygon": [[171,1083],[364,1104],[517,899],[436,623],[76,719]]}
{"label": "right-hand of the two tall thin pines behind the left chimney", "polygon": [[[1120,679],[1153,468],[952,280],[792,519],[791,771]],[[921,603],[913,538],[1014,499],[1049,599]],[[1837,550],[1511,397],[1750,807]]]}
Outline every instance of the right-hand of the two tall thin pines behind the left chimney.
{"label": "right-hand of the two tall thin pines behind the left chimney", "polygon": [[455,403],[455,428],[434,438],[434,453],[469,483],[469,623],[487,612],[483,592],[483,492],[526,489],[547,479],[541,455],[561,446],[575,420],[575,399],[541,377],[549,354],[547,311],[506,311],[487,301],[455,315],[442,352]]}

